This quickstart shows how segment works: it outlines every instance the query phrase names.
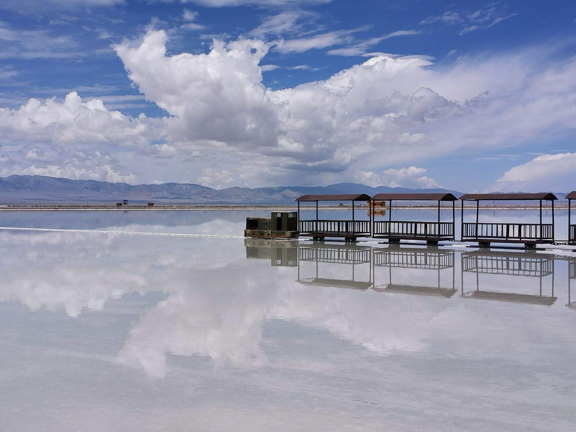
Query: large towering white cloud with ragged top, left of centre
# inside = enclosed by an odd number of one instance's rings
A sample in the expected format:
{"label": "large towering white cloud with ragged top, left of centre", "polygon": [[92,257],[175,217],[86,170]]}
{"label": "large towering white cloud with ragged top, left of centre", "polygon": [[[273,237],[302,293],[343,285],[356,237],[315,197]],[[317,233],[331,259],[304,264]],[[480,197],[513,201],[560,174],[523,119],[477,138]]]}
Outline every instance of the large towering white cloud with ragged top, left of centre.
{"label": "large towering white cloud with ragged top, left of centre", "polygon": [[209,54],[166,56],[165,41],[164,32],[151,32],[140,46],[119,44],[115,50],[146,98],[174,116],[165,122],[173,141],[253,150],[275,145],[279,107],[262,84],[258,66],[268,44],[215,40]]}

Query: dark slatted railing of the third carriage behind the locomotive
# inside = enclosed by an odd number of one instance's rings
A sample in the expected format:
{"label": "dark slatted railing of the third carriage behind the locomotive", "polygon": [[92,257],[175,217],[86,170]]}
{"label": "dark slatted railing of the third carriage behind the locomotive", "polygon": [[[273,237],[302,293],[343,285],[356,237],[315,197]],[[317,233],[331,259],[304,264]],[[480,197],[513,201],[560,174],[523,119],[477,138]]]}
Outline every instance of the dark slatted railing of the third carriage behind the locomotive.
{"label": "dark slatted railing of the third carriage behind the locomotive", "polygon": [[495,240],[553,240],[552,223],[476,223],[462,224],[462,238],[494,238]]}

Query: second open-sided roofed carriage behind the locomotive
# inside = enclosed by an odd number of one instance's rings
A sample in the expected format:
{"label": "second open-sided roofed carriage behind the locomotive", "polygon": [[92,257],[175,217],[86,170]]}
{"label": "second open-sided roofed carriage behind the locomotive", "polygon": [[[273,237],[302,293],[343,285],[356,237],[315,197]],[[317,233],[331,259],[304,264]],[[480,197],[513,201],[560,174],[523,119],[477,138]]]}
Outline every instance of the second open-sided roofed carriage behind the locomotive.
{"label": "second open-sided roofed carriage behind the locomotive", "polygon": [[[438,222],[392,221],[392,200],[437,201]],[[376,194],[372,197],[372,237],[388,238],[391,243],[400,240],[425,240],[429,245],[437,245],[441,240],[454,240],[454,202],[452,194]],[[388,221],[376,221],[376,203],[389,203]],[[452,222],[441,222],[440,203],[452,202]],[[381,204],[380,204],[381,205]]]}

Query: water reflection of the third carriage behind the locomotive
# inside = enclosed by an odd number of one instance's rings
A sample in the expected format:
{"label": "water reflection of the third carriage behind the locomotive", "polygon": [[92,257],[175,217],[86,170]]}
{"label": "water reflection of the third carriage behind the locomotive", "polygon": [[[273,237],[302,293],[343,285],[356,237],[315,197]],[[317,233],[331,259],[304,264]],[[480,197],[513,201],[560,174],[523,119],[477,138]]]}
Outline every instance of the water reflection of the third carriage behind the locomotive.
{"label": "water reflection of the third carriage behind the locomotive", "polygon": [[[476,290],[464,294],[464,274],[476,274]],[[539,279],[539,294],[480,290],[480,274],[526,276]],[[551,295],[542,294],[545,276],[551,276]],[[461,294],[466,298],[552,305],[554,297],[554,256],[533,252],[465,252],[461,257]]]}

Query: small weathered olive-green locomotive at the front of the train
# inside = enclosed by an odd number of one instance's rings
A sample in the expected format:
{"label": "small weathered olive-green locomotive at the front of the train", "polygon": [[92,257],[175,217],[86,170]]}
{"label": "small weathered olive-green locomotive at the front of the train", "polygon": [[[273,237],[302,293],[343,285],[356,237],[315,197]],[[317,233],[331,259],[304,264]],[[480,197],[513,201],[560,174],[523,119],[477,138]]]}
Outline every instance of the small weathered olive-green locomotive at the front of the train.
{"label": "small weathered olive-green locomotive at the front of the train", "polygon": [[272,211],[269,218],[248,217],[244,237],[298,237],[298,215],[295,211]]}

